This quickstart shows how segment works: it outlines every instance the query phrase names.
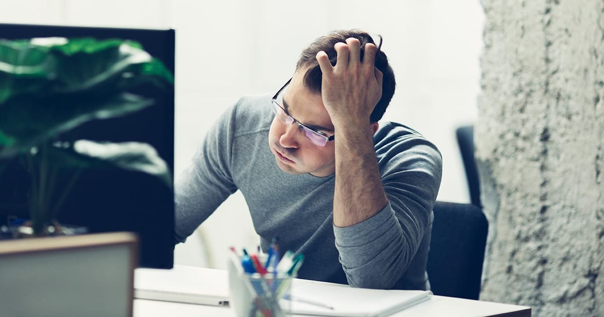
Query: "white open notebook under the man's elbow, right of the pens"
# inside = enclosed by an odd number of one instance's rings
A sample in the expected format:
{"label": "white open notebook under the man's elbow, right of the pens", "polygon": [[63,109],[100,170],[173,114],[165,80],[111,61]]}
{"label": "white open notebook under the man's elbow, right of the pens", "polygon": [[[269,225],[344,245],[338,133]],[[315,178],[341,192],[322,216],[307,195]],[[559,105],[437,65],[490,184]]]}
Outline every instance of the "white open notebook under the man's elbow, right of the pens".
{"label": "white open notebook under the man's elbow, right of the pens", "polygon": [[[299,315],[382,317],[427,301],[429,290],[359,289],[303,284],[292,287],[289,310]],[[328,308],[330,307],[330,308]]]}

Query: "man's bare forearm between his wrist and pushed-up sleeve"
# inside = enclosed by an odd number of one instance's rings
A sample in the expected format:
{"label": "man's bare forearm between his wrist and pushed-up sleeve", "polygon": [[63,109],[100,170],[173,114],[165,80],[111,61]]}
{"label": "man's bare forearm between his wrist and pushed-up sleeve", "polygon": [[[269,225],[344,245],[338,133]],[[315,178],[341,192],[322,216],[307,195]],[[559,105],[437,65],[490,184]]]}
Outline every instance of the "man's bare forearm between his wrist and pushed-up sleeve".
{"label": "man's bare forearm between his wrist and pushed-up sleeve", "polygon": [[333,224],[347,227],[382,210],[388,199],[377,167],[370,124],[349,123],[336,127],[336,131]]}

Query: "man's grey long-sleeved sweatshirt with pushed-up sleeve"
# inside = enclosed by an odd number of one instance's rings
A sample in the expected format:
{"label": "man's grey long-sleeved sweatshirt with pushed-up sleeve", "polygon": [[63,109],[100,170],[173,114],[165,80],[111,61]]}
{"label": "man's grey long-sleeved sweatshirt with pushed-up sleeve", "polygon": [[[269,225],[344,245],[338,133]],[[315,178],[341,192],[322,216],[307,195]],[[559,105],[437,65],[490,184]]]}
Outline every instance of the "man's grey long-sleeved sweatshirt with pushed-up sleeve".
{"label": "man's grey long-sleeved sweatshirt with pushed-up sleeve", "polygon": [[434,144],[401,124],[381,123],[374,143],[389,203],[364,222],[338,228],[332,214],[335,175],[281,171],[268,146],[273,118],[271,97],[244,97],[208,130],[175,185],[176,243],[240,190],[262,249],[276,238],[281,251],[304,254],[299,278],[429,289],[432,205],[442,174]]}

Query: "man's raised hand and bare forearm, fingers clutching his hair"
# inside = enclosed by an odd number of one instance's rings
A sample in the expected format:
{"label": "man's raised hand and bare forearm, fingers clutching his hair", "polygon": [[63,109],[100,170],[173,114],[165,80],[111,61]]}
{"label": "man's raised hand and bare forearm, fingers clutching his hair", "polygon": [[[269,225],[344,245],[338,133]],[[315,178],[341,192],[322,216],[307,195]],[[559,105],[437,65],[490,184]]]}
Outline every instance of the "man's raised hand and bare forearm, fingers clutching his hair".
{"label": "man's raised hand and bare forearm, fingers clutching his hair", "polygon": [[321,97],[335,130],[333,224],[347,227],[388,204],[373,144],[377,123],[370,123],[371,112],[382,96],[383,74],[375,67],[375,45],[365,45],[362,62],[358,39],[334,47],[336,66],[323,51],[316,54],[316,60],[323,71]]}

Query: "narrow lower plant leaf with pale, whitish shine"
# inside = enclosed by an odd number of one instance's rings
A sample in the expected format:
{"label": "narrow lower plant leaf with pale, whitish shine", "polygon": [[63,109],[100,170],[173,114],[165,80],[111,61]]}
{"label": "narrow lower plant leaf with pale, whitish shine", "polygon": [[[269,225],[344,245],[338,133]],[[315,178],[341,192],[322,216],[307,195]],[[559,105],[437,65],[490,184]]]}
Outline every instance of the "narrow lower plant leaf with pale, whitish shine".
{"label": "narrow lower plant leaf with pale, whitish shine", "polygon": [[172,188],[166,162],[149,144],[142,142],[97,142],[81,139],[71,144],[56,143],[50,154],[58,167],[118,168],[156,176]]}

